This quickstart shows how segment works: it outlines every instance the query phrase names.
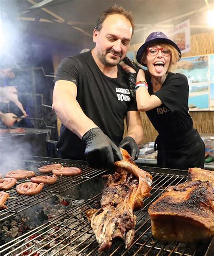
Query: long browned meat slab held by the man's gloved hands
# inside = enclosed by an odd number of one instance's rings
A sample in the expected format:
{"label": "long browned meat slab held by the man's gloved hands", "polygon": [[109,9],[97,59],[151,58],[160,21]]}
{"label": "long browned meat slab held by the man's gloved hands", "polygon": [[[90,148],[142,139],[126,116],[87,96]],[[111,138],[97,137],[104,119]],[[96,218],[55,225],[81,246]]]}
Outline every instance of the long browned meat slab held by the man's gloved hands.
{"label": "long browned meat slab held by the man's gloved hands", "polygon": [[115,173],[107,178],[100,201],[101,208],[87,211],[91,227],[99,243],[99,251],[112,246],[112,239],[121,237],[130,247],[135,235],[134,210],[150,196],[152,176],[135,165],[128,152],[121,149],[123,161],[115,163]]}

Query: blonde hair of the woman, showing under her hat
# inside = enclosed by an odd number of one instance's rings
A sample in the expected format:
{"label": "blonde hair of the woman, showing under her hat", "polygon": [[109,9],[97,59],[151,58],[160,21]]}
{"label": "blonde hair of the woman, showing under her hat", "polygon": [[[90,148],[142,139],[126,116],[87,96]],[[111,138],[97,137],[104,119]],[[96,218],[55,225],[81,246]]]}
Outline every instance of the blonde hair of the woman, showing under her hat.
{"label": "blonde hair of the woman, showing under her hat", "polygon": [[[167,71],[171,71],[172,69],[172,65],[174,65],[175,63],[177,63],[180,59],[180,53],[176,50],[176,48],[174,46],[172,46],[171,44],[168,43],[155,43],[155,44],[151,44],[149,47],[153,47],[153,46],[157,46],[159,45],[161,48],[167,48],[171,51],[171,59],[169,62],[169,67]],[[140,59],[140,63],[145,63],[146,60],[146,56],[147,56],[148,52],[147,50],[145,50],[142,54],[142,57]]]}

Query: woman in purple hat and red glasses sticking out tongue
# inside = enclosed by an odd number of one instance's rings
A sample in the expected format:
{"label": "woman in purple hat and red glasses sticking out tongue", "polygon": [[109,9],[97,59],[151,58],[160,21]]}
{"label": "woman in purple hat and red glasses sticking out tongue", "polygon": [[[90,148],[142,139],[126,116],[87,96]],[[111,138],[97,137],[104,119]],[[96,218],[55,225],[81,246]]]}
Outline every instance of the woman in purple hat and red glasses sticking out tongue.
{"label": "woman in purple hat and red glasses sticking out tongue", "polygon": [[[188,170],[204,168],[205,145],[193,129],[189,114],[189,85],[186,76],[170,72],[181,58],[181,51],[162,32],[153,32],[137,52],[137,61],[148,71],[132,66],[137,73],[135,94],[138,110],[145,111],[158,131],[155,147],[158,167]],[[135,70],[133,69],[135,68]]]}

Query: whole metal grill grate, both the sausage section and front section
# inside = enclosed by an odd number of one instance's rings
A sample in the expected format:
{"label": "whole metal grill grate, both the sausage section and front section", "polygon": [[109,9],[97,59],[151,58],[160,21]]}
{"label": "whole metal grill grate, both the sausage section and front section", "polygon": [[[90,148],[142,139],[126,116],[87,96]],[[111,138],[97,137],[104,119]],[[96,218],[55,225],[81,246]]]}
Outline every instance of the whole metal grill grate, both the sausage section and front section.
{"label": "whole metal grill grate, both the sausage section and front section", "polygon": [[[42,158],[41,158],[42,159]],[[47,186],[44,191],[31,198],[27,196],[18,196],[9,202],[8,213],[1,216],[1,219],[8,218],[12,211],[22,211],[34,204],[51,198],[52,196],[69,190],[72,187],[99,177],[105,173],[104,170],[95,170],[85,165],[83,161],[57,160],[64,166],[78,166],[82,169],[82,174],[76,177],[61,177],[56,184]],[[44,165],[53,163],[53,161],[34,162],[31,164],[31,170]],[[182,256],[211,256],[214,254],[214,239],[211,242],[205,242],[196,245],[183,244],[179,242],[167,243],[159,242],[152,236],[150,219],[148,215],[149,205],[152,204],[169,185],[177,185],[186,181],[186,171],[168,170],[155,167],[142,167],[149,171],[153,176],[153,185],[151,196],[144,200],[144,206],[140,211],[135,212],[136,226],[135,238],[129,249],[126,249],[124,242],[115,240],[112,247],[104,252],[103,256],[118,255],[182,255]],[[33,169],[34,168],[34,169]],[[27,169],[27,168],[26,168]],[[102,187],[101,187],[102,190]],[[100,192],[101,192],[100,190]],[[37,228],[15,238],[14,240],[0,246],[0,254],[9,255],[99,255],[98,243],[94,236],[90,223],[86,218],[86,210],[91,208],[98,209],[101,194],[98,193],[84,203],[68,210],[59,217],[47,221]],[[20,199],[19,199],[20,197]],[[17,208],[18,207],[18,208]]]}

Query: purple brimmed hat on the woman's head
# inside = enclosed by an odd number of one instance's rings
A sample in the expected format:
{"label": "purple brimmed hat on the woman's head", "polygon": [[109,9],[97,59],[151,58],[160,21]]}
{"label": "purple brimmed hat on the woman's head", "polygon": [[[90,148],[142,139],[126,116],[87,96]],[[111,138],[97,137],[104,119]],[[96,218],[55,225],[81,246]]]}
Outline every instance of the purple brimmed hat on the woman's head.
{"label": "purple brimmed hat on the woman's head", "polygon": [[[176,50],[180,53],[180,58],[181,58],[181,51],[180,51],[179,47],[177,46],[177,44],[174,43],[169,38],[167,38],[167,36],[163,32],[156,31],[156,32],[151,33],[148,36],[148,38],[146,38],[145,43],[142,44],[141,47],[138,49],[136,59],[139,63],[140,63],[140,59],[141,59],[143,52],[146,51],[146,48],[153,43],[168,43],[168,44],[174,46],[176,48]],[[143,64],[143,63],[140,63],[140,64],[143,66],[146,66],[146,64]]]}

